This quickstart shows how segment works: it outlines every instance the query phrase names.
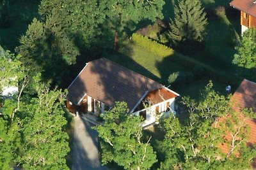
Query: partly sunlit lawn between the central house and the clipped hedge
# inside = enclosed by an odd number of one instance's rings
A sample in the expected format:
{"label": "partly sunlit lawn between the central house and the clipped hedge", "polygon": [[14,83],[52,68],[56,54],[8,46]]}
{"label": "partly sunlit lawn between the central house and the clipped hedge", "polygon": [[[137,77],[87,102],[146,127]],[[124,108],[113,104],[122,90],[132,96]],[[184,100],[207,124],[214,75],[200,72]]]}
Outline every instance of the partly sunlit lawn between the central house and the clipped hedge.
{"label": "partly sunlit lawn between the central house and the clipped hedge", "polygon": [[[117,62],[118,64],[136,71],[159,81],[163,85],[168,85],[168,76],[170,73],[176,71],[191,71],[184,66],[180,66],[177,62],[172,61],[172,57],[175,57],[175,53],[172,56],[160,57],[156,53],[150,52],[145,48],[135,45],[131,40],[125,41],[120,53],[110,53],[107,58]],[[202,79],[194,80],[190,83],[180,84],[178,87],[171,87],[182,96],[191,96],[197,98],[200,94],[200,90],[212,80],[214,88],[225,94],[225,87],[227,84],[221,81],[214,80],[211,75],[207,75]]]}

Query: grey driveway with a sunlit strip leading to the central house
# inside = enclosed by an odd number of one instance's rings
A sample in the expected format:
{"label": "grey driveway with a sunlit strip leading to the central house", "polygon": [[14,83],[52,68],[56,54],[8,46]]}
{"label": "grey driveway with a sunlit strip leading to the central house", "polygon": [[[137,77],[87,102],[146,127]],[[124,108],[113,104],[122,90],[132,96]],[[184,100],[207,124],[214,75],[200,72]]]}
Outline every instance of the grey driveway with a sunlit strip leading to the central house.
{"label": "grey driveway with a sunlit strip leading to the central house", "polygon": [[93,125],[80,117],[75,118],[72,170],[105,170],[100,164],[98,133]]}

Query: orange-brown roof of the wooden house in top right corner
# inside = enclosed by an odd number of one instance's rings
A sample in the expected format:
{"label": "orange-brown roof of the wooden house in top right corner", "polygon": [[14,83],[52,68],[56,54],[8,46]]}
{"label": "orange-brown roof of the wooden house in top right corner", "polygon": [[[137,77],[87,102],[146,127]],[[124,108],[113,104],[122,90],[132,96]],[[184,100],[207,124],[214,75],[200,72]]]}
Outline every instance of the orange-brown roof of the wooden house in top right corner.
{"label": "orange-brown roof of the wooden house in top right corner", "polygon": [[244,11],[256,17],[256,3],[253,3],[253,1],[255,0],[234,0],[230,5],[237,8],[237,10]]}

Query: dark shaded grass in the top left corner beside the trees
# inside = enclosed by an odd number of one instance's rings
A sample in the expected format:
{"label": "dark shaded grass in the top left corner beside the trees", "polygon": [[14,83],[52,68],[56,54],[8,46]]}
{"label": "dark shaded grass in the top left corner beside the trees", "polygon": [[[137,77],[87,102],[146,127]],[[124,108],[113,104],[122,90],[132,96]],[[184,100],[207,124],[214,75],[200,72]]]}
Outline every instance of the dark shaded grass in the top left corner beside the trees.
{"label": "dark shaded grass in the top left corner beside the trees", "polygon": [[19,38],[26,33],[28,25],[34,17],[38,17],[38,5],[40,0],[10,0],[11,27],[0,27],[0,45],[4,50],[14,52],[19,45]]}

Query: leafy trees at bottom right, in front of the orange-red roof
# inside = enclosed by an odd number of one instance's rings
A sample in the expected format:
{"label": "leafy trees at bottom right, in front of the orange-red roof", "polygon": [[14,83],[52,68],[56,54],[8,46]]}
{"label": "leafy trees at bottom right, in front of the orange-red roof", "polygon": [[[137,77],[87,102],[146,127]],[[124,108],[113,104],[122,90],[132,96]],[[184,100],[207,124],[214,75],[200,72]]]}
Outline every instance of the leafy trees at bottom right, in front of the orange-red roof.
{"label": "leafy trees at bottom right, in front of the orange-red roof", "polygon": [[[240,116],[237,115],[230,105],[230,97],[214,92],[211,81],[202,91],[200,101],[183,97],[182,103],[189,112],[186,122],[181,123],[175,115],[161,122],[166,132],[164,140],[159,141],[159,148],[165,158],[161,162],[161,169],[250,168],[256,151],[246,147],[250,134],[246,121],[252,117],[252,110],[243,110]],[[225,119],[221,120],[221,117]],[[235,145],[225,155],[218,145],[225,142],[223,136],[227,132],[233,134]],[[227,143],[232,146],[232,140]],[[236,152],[242,154],[237,157]]]}

